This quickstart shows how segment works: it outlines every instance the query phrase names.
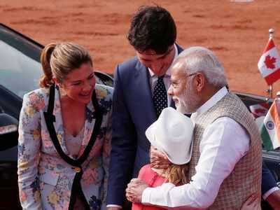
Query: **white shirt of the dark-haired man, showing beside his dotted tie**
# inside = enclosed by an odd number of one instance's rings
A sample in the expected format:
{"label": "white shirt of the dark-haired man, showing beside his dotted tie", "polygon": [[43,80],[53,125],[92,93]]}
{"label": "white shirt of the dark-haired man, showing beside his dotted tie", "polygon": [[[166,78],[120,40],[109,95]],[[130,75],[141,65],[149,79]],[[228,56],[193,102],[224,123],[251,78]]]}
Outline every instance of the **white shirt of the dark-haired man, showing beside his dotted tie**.
{"label": "white shirt of the dark-haired man, showing beside his dotted tie", "polygon": [[[165,89],[168,90],[168,88],[170,87],[171,84],[171,67],[174,64],[174,60],[176,57],[178,57],[178,49],[176,47],[176,44],[174,44],[174,48],[175,48],[175,55],[174,55],[174,59],[172,61],[172,64],[169,66],[169,68],[167,69],[166,73],[165,73],[165,77],[163,78],[163,82],[165,83]],[[152,97],[153,97],[153,90],[155,90],[155,85],[157,84],[158,81],[158,76],[155,75],[155,73],[153,73],[152,69],[148,68],[148,71],[150,73],[150,87],[151,87],[151,92],[152,92]],[[167,104],[168,106],[171,105],[172,102],[172,97],[167,94]]]}

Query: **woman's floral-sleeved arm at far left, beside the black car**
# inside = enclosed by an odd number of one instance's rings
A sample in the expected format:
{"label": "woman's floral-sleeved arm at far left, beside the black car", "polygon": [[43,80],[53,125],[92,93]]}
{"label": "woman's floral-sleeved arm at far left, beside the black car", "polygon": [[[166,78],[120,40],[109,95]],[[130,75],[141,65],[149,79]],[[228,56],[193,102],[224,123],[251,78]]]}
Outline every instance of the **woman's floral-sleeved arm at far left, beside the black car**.
{"label": "woman's floral-sleeved arm at far left, beside the black car", "polygon": [[25,95],[20,112],[18,139],[18,187],[22,209],[41,209],[38,162],[41,146],[41,114],[36,94]]}

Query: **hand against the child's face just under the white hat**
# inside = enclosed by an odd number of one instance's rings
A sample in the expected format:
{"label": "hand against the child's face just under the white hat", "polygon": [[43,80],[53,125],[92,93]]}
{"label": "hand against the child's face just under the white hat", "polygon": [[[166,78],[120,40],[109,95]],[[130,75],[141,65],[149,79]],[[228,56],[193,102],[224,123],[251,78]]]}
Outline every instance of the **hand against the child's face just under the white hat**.
{"label": "hand against the child's face just under the white hat", "polygon": [[158,151],[155,147],[151,146],[151,167],[155,169],[167,169],[171,162],[168,160],[167,155]]}

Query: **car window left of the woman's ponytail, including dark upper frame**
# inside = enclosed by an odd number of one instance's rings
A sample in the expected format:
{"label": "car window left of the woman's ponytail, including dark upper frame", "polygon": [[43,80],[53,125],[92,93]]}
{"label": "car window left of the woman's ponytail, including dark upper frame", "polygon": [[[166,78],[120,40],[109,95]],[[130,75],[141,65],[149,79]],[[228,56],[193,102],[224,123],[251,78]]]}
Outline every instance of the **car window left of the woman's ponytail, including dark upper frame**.
{"label": "car window left of the woman's ponytail, including dark upper frame", "polygon": [[38,88],[43,46],[0,24],[0,85],[18,97]]}

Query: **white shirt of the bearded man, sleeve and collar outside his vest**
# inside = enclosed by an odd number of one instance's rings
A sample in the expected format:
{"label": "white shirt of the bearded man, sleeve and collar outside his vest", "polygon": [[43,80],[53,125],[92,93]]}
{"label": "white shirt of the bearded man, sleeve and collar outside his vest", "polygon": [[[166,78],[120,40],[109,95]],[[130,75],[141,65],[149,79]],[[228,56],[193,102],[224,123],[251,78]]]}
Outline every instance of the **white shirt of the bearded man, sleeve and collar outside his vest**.
{"label": "white shirt of the bearded man, sleeve and collar outside his vest", "polygon": [[[193,113],[193,123],[197,116],[208,111],[227,93],[226,87],[216,92]],[[248,152],[249,144],[250,137],[239,123],[228,117],[218,118],[204,130],[200,143],[200,159],[195,167],[193,181],[178,187],[165,183],[158,188],[146,188],[141,202],[164,207],[207,209],[218,195],[223,180]]]}

